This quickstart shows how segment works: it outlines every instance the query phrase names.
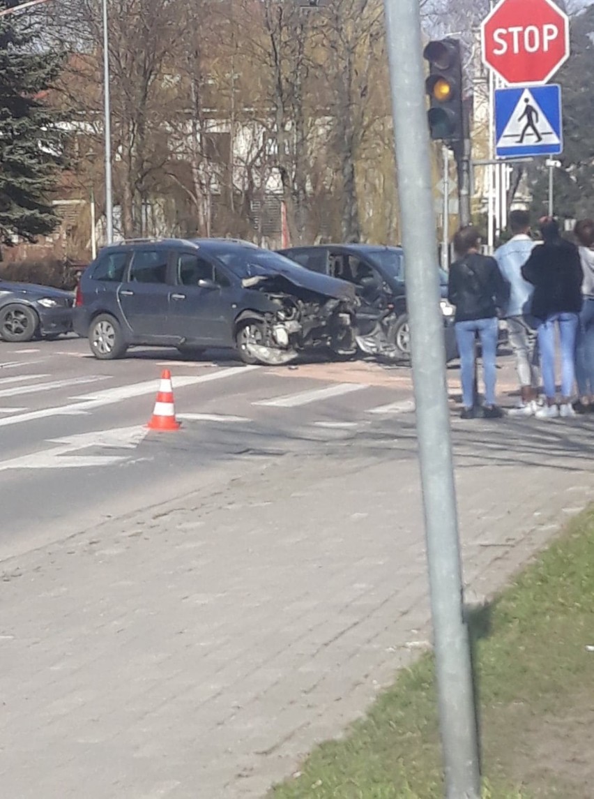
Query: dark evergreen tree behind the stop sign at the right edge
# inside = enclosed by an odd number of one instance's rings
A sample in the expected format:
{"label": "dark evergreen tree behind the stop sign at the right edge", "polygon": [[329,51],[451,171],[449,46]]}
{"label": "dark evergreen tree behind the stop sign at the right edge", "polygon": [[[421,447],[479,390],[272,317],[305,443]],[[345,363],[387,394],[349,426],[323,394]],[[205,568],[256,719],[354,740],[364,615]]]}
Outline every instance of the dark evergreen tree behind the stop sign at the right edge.
{"label": "dark evergreen tree behind the stop sign at the right edge", "polygon": [[[555,170],[555,213],[565,219],[594,217],[594,6],[572,19],[572,54],[560,71],[564,152]],[[557,78],[555,78],[556,80]],[[535,209],[546,212],[548,171],[531,169]]]}

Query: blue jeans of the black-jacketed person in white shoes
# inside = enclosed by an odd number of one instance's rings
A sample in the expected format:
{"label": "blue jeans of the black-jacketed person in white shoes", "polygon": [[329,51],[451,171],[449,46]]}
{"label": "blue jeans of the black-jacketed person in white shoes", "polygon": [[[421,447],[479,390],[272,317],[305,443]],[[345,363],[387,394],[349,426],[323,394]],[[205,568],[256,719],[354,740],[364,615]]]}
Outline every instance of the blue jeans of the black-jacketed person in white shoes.
{"label": "blue jeans of the black-jacketed person in white shoes", "polygon": [[576,313],[552,313],[538,326],[538,346],[541,349],[541,372],[547,400],[556,397],[555,331],[559,327],[561,348],[561,396],[570,397],[576,381]]}

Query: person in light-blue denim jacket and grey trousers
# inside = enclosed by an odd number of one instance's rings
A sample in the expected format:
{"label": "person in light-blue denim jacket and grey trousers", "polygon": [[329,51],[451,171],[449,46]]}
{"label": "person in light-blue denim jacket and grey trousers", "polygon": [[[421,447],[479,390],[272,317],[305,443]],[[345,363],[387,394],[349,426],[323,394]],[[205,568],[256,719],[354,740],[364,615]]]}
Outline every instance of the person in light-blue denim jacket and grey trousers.
{"label": "person in light-blue denim jacket and grey trousers", "polygon": [[529,259],[535,242],[530,238],[528,211],[512,211],[509,227],[513,237],[495,252],[495,260],[506,283],[509,302],[505,309],[509,344],[516,356],[520,382],[520,407],[514,414],[531,416],[538,410],[538,388],[541,380],[538,368],[538,320],[530,312],[534,287],[522,277],[522,267]]}

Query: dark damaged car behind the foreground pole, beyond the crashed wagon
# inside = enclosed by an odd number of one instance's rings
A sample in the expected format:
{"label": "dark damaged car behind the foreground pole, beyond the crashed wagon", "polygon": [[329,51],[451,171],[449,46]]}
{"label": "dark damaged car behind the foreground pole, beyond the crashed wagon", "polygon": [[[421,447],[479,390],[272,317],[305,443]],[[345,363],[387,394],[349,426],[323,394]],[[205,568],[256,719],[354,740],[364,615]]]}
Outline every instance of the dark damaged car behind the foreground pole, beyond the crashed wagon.
{"label": "dark damaged car behind the foreground pole, beyond the crashed wagon", "polygon": [[[279,250],[307,269],[354,284],[361,304],[357,310],[357,344],[362,352],[386,360],[410,360],[410,329],[406,312],[404,254],[400,247],[377,244],[319,244]],[[447,273],[438,269],[442,287],[446,359],[457,358],[453,306],[447,301]]]}

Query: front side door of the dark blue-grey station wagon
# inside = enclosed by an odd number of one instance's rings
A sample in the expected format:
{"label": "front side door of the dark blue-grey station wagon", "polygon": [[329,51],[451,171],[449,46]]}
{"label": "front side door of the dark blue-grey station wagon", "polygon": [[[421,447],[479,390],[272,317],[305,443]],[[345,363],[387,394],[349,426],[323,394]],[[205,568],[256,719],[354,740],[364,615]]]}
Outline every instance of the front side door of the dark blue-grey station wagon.
{"label": "front side door of the dark blue-grey station wagon", "polygon": [[178,339],[229,347],[235,316],[232,276],[219,264],[194,252],[176,252],[169,319]]}

